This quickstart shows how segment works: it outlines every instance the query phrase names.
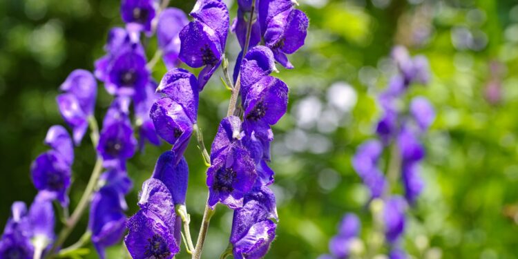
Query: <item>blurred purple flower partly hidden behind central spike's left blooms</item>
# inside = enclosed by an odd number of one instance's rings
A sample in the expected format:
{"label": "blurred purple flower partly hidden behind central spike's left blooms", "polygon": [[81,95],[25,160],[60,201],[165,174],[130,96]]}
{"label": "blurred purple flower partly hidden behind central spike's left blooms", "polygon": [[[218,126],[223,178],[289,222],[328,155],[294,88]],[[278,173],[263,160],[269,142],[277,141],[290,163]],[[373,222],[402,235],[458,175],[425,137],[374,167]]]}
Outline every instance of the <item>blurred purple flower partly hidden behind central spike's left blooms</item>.
{"label": "blurred purple flower partly hidden behind central spike's left blooms", "polygon": [[139,98],[133,99],[135,101],[133,106],[135,110],[135,124],[139,132],[138,147],[141,152],[144,151],[146,142],[154,144],[155,146],[160,145],[160,138],[155,131],[155,125],[149,117],[151,106],[160,98],[160,95],[155,93],[156,89],[157,84],[154,81],[150,81],[146,86],[144,95],[139,95]]}

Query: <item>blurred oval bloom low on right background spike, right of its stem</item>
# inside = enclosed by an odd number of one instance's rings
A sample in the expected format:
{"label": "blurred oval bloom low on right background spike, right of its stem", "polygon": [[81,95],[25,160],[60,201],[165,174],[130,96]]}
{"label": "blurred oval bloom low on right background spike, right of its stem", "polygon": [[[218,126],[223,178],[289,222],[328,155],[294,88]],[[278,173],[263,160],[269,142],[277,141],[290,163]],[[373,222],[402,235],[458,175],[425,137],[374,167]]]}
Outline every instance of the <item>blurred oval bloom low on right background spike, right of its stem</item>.
{"label": "blurred oval bloom low on right background spike, right of its stem", "polygon": [[396,242],[405,231],[406,202],[400,196],[392,196],[385,202],[383,222],[385,222],[385,236],[391,243]]}

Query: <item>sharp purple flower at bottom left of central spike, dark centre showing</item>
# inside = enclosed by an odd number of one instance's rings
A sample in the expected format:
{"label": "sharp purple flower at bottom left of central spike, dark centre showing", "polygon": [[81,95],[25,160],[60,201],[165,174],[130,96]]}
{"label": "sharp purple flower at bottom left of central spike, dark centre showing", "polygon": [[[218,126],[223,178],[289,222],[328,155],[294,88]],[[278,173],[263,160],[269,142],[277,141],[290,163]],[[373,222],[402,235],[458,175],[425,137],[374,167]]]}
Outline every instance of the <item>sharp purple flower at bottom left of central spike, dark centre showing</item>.
{"label": "sharp purple flower at bottom left of central spike, dark centre showing", "polygon": [[128,220],[126,247],[135,259],[173,258],[180,251],[179,218],[169,189],[155,178],[142,184],[140,211]]}

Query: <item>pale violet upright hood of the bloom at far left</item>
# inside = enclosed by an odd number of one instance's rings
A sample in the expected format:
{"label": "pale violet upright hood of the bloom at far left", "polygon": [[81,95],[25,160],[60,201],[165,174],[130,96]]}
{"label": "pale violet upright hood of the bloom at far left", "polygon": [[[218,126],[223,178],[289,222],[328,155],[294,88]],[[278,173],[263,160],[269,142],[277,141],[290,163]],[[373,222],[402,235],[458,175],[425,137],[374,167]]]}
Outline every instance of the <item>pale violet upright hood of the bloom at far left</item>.
{"label": "pale violet upright hood of the bloom at far left", "polygon": [[63,126],[51,126],[47,131],[45,144],[57,151],[68,164],[72,164],[74,161],[74,146],[70,135]]}

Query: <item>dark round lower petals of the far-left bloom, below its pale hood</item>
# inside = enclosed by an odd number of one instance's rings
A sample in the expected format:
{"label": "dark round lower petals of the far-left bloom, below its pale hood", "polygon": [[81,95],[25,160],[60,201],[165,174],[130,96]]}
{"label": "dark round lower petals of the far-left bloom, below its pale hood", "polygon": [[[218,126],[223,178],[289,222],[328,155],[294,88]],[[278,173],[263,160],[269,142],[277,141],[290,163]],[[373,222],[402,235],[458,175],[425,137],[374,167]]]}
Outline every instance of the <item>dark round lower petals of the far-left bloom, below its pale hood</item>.
{"label": "dark round lower petals of the far-left bloom, below its pale hood", "polygon": [[61,206],[68,206],[66,195],[70,186],[70,164],[57,151],[42,153],[30,166],[32,182],[39,191],[48,191]]}

